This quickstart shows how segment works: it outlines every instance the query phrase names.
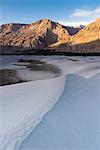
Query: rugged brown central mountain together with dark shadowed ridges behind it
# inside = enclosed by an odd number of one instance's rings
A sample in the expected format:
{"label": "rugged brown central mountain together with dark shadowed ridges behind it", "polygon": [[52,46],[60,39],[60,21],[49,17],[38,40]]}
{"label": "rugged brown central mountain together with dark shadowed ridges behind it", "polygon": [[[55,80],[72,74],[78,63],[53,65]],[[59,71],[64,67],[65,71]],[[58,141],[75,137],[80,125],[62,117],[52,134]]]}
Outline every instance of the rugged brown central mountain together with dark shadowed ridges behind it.
{"label": "rugged brown central mountain together with dark shadowed ridges behind it", "polygon": [[80,29],[65,27],[49,19],[29,25],[6,24],[1,27],[0,45],[46,48],[57,42],[68,42],[70,35],[76,34]]}

